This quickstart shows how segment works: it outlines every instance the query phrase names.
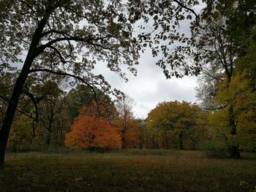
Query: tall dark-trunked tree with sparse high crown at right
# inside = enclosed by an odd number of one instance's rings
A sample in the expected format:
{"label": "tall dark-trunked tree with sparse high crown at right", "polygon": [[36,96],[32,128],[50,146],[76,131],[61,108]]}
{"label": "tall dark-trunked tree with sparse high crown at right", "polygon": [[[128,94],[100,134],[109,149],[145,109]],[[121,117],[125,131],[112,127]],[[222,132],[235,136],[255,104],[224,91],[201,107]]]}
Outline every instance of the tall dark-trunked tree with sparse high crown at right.
{"label": "tall dark-trunked tree with sparse high crown at right", "polygon": [[[197,96],[208,110],[227,112],[226,128],[230,137],[236,137],[236,112],[233,96],[225,102],[216,102],[218,86],[231,94],[232,78],[236,74],[236,60],[246,54],[246,39],[255,26],[255,1],[206,1],[207,7],[200,15],[200,23],[192,27],[192,46],[195,62],[204,63],[204,83],[198,88]],[[203,26],[203,28],[202,28]],[[245,66],[245,65],[244,65]],[[227,109],[224,109],[227,108]],[[228,114],[228,115],[227,115]],[[230,146],[230,155],[240,157],[238,145]]]}

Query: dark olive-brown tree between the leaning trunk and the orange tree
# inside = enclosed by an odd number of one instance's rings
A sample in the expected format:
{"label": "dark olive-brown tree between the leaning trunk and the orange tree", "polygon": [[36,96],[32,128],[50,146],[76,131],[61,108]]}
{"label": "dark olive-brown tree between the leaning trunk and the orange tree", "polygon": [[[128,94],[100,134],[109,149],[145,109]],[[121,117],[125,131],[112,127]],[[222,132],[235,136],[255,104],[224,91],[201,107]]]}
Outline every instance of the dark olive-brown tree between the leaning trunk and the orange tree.
{"label": "dark olive-brown tree between the leaning trunk and the orange tree", "polygon": [[[67,79],[66,79],[67,80]],[[50,145],[53,133],[56,143],[61,143],[64,125],[68,125],[67,115],[64,115],[64,91],[61,90],[65,84],[64,78],[41,74],[37,77],[29,77],[23,86],[24,107],[22,112],[33,121],[34,137],[36,128],[41,134],[44,133],[47,145]],[[20,104],[19,104],[20,105]],[[32,138],[33,139],[33,138]]]}

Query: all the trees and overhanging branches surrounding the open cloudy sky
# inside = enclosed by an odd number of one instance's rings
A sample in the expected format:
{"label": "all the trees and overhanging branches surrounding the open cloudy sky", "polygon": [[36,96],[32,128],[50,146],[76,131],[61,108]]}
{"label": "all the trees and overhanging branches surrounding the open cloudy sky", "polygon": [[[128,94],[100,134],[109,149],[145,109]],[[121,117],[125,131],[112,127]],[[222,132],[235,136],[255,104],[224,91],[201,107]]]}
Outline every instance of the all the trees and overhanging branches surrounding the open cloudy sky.
{"label": "all the trees and overhanging branches surrounding the open cloudy sky", "polygon": [[[0,164],[6,151],[255,152],[256,1],[199,3],[0,1]],[[134,34],[137,22],[152,31]],[[126,80],[120,65],[136,74],[146,49],[167,78],[198,76],[197,104],[162,101],[137,119],[129,93],[92,73],[104,61]]]}

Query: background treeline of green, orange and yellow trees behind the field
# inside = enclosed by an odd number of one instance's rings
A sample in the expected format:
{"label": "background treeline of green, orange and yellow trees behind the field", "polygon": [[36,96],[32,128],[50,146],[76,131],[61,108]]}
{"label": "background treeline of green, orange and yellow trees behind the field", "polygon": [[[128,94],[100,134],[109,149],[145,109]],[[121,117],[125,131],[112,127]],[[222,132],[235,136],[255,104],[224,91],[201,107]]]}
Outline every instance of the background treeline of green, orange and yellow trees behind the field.
{"label": "background treeline of green, orange and yellow trees behind the field", "polygon": [[[68,147],[91,151],[162,148],[228,153],[234,143],[239,145],[239,151],[255,151],[255,123],[251,121],[255,119],[255,104],[250,102],[255,102],[256,97],[248,101],[252,108],[243,104],[242,109],[235,111],[238,131],[233,136],[227,126],[226,107],[209,111],[187,101],[163,101],[143,120],[133,115],[129,96],[112,101],[97,90],[94,98],[86,85],[63,91],[67,83],[45,81],[44,77],[40,85],[30,86],[37,111],[31,99],[23,95],[18,107],[20,113],[15,115],[10,132],[8,151],[58,151]],[[242,88],[247,89],[244,85]],[[220,155],[231,155],[227,153]]]}

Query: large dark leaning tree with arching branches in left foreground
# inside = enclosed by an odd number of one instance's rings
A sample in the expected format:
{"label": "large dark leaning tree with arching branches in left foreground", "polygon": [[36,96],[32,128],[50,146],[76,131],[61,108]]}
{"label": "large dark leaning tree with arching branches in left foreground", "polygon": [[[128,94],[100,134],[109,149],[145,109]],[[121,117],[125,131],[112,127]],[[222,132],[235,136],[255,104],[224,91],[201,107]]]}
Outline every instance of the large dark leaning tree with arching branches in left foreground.
{"label": "large dark leaning tree with arching branches in left foreground", "polygon": [[[96,61],[107,61],[111,70],[121,74],[118,64],[129,64],[132,70],[138,52],[133,48],[136,43],[130,24],[122,14],[124,5],[116,1],[108,5],[104,1],[1,1],[0,7],[1,64],[23,62],[0,130],[3,164],[12,119],[29,75],[67,75],[91,88],[100,84],[108,91],[102,75],[90,72]],[[24,52],[22,61],[19,55]]]}

